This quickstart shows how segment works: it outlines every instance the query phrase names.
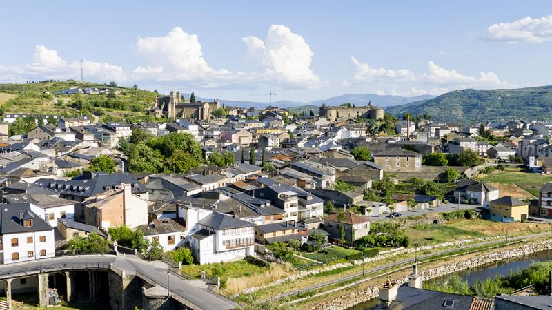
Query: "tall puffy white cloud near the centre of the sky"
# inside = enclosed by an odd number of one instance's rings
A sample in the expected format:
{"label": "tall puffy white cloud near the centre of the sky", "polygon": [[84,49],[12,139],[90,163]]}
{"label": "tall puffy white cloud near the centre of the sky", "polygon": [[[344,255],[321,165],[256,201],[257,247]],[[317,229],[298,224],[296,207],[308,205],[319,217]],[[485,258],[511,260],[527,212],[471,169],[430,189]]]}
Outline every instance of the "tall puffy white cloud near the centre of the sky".
{"label": "tall puffy white cloud near the centre of the sky", "polygon": [[248,59],[264,68],[263,78],[282,87],[317,87],[320,78],[311,70],[313,52],[304,38],[284,25],[271,25],[263,41],[243,37]]}

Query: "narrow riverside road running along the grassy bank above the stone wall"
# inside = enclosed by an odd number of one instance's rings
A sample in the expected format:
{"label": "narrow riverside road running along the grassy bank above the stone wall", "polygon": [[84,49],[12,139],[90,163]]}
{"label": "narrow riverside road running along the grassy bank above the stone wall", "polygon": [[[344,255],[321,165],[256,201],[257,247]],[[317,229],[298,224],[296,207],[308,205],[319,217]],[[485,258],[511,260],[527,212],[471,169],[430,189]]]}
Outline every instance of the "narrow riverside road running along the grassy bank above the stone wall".
{"label": "narrow riverside road running along the grassy bank above the stone wall", "polygon": [[[522,239],[529,239],[529,238],[535,238],[535,237],[540,237],[540,236],[549,236],[549,235],[550,235],[549,232],[542,232],[542,233],[539,233],[539,234],[531,234],[531,235],[526,235],[526,236],[510,237],[510,238],[508,238],[508,240],[509,241],[510,240],[522,240]],[[500,242],[504,242],[504,241],[505,240],[501,238],[501,239],[495,239],[495,240],[486,241],[486,242],[471,243],[469,245],[464,245],[464,249],[471,249],[471,248],[474,248],[474,247],[481,247],[481,246],[484,246],[484,245],[492,245],[494,243],[500,243]],[[455,251],[458,251],[458,248],[446,249],[446,250],[438,251],[438,252],[431,253],[431,254],[420,255],[420,256],[417,256],[417,258],[406,258],[404,260],[399,260],[397,262],[391,262],[391,263],[388,263],[386,265],[381,265],[381,266],[374,267],[374,268],[371,268],[371,269],[366,269],[364,271],[364,276],[372,276],[373,273],[384,271],[384,270],[390,269],[392,267],[404,266],[404,267],[402,267],[400,269],[397,269],[395,271],[402,270],[402,269],[407,269],[407,268],[411,267],[410,264],[413,264],[416,259],[417,260],[424,260],[424,259],[428,259],[428,258],[431,259],[431,257],[442,256],[443,254],[452,253],[452,252],[455,252]],[[359,277],[362,277],[362,276],[363,276],[363,272],[359,271],[357,273],[353,273],[353,274],[348,275],[348,276],[343,276],[342,278],[337,278],[337,279],[334,279],[334,280],[328,280],[326,282],[319,282],[315,285],[311,285],[311,286],[308,286],[308,287],[301,287],[301,293],[306,293],[308,291],[314,291],[316,289],[322,289],[322,288],[328,287],[330,285],[335,285],[339,282],[345,282],[345,281],[348,281],[348,280],[353,280],[355,278],[359,278]],[[377,276],[377,277],[379,277],[379,276]],[[357,282],[364,282],[366,280],[371,280],[373,278],[376,278],[376,277],[372,276],[371,278],[364,278],[364,279],[359,280]],[[289,296],[297,295],[298,293],[299,293],[299,288],[297,287],[297,289],[293,289],[292,291],[288,291],[286,293],[281,293],[281,294],[278,294],[278,295],[270,297],[270,298],[264,298],[262,300],[259,300],[259,302],[265,302],[265,301],[268,301],[268,300],[279,300],[279,299],[282,299],[282,298],[287,298]],[[322,293],[319,293],[317,295],[322,295]]]}

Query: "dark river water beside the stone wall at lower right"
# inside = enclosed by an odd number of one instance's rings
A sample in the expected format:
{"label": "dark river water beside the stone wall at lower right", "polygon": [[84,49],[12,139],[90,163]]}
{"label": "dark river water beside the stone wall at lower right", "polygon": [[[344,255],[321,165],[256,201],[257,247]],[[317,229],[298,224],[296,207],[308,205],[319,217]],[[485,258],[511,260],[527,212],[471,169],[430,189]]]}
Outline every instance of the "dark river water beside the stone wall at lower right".
{"label": "dark river water beside the stone wall at lower right", "polygon": [[[542,251],[531,255],[521,256],[518,258],[500,260],[500,262],[491,262],[490,264],[460,271],[455,274],[467,280],[471,285],[477,280],[484,281],[486,280],[486,278],[493,278],[497,274],[506,276],[510,273],[510,270],[521,270],[529,267],[529,265],[531,265],[533,262],[544,262],[545,260],[552,260],[552,251]],[[357,304],[356,306],[351,307],[347,310],[372,309],[377,305],[378,302],[380,302],[380,300],[374,298],[373,300],[362,302],[361,304]]]}

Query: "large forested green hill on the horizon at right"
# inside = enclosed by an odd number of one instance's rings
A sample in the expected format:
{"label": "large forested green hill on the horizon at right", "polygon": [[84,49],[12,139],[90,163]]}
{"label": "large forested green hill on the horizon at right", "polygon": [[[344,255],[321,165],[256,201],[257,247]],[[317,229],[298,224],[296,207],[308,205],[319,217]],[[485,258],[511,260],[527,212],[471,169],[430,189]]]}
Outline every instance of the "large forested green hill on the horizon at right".
{"label": "large forested green hill on the horizon at right", "polygon": [[552,118],[552,85],[514,90],[455,90],[433,99],[390,107],[401,116],[427,113],[436,121],[489,121],[494,119]]}

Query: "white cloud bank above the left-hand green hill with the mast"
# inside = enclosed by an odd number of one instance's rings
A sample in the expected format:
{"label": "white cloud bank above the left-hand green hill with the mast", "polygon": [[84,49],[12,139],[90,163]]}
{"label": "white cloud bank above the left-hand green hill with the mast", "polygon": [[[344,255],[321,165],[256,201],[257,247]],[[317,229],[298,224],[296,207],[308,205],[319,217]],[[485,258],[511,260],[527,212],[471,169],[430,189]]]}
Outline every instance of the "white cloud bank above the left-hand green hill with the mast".
{"label": "white cloud bank above the left-hand green hill with the mast", "polygon": [[[122,67],[97,61],[83,60],[83,75],[87,81],[126,81]],[[68,62],[56,50],[44,45],[34,48],[34,63],[21,66],[0,65],[0,81],[21,82],[33,79],[80,79],[81,62]]]}

